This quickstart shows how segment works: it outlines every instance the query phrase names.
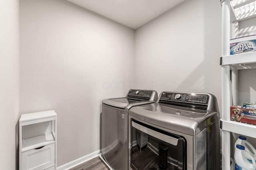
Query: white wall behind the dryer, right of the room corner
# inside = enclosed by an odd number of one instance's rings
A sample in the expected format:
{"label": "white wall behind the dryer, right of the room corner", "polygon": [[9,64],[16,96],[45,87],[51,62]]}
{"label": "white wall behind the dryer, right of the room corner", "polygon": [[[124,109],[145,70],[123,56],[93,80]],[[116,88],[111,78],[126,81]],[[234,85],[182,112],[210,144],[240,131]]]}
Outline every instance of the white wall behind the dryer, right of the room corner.
{"label": "white wall behind the dryer, right of the room corner", "polygon": [[136,80],[159,93],[212,93],[220,109],[220,42],[220,2],[186,0],[136,29]]}

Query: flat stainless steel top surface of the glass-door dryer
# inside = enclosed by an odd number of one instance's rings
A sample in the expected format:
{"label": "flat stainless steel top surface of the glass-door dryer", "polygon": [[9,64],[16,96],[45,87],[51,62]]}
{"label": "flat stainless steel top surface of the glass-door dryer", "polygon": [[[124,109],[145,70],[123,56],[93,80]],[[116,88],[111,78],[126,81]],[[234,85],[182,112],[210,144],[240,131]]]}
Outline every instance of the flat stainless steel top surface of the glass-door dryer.
{"label": "flat stainless steel top surface of the glass-door dryer", "polygon": [[132,107],[129,115],[192,136],[200,133],[220,117],[220,114],[214,111],[158,103]]}

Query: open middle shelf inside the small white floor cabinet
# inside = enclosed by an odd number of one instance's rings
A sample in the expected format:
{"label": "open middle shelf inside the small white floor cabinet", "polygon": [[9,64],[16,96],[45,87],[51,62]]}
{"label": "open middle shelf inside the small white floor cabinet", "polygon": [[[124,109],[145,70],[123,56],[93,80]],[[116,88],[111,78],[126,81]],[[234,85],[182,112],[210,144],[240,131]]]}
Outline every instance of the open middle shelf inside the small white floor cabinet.
{"label": "open middle shelf inside the small white floor cabinet", "polygon": [[52,133],[48,133],[46,135],[40,135],[40,136],[28,138],[28,139],[23,139],[22,152],[25,152],[31,149],[36,149],[38,147],[43,147],[51,143],[55,143],[55,139]]}

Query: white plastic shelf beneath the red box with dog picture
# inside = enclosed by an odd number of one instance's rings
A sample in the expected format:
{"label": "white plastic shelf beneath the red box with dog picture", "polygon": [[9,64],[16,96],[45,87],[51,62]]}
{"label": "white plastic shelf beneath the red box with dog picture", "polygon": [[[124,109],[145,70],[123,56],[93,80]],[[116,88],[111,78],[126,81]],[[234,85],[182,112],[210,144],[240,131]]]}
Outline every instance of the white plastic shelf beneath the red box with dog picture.
{"label": "white plastic shelf beneath the red box with dog picture", "polygon": [[250,125],[236,121],[224,121],[223,119],[220,119],[220,128],[224,131],[256,138],[256,125]]}

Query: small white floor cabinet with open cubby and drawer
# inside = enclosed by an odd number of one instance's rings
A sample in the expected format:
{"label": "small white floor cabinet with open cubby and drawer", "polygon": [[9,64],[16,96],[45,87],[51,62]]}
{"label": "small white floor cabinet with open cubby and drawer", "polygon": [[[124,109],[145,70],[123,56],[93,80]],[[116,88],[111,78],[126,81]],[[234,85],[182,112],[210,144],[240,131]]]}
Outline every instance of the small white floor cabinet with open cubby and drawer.
{"label": "small white floor cabinet with open cubby and drawer", "polygon": [[56,170],[57,114],[22,114],[19,121],[20,170]]}

